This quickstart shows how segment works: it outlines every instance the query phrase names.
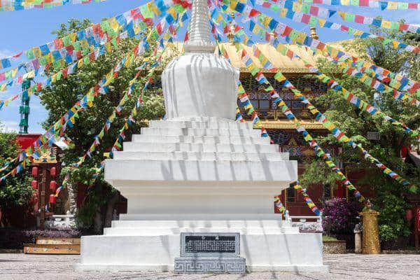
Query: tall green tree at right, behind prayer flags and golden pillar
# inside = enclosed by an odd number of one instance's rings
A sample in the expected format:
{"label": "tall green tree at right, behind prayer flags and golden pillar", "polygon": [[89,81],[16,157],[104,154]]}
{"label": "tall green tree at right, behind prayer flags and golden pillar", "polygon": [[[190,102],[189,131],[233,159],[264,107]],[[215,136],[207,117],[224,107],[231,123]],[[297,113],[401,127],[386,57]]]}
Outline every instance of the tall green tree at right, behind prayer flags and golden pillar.
{"label": "tall green tree at right, behind prayer flags and golden pillar", "polygon": [[[385,31],[377,28],[371,31],[375,34],[404,41],[405,43],[419,45],[418,36],[408,38],[405,34],[398,31]],[[359,57],[395,73],[403,73],[411,78],[419,78],[419,59],[416,55],[410,52],[394,50],[391,45],[384,45],[377,39],[355,39],[346,45],[346,50],[353,53],[356,52],[359,54]],[[343,75],[336,64],[332,64],[326,59],[318,60],[318,68],[326,75],[337,80],[346,90],[377,106],[388,116],[405,123],[412,130],[418,129],[420,112],[415,106],[407,106],[402,104],[402,102],[395,101],[392,94],[379,94],[371,87],[361,83],[357,78]],[[365,111],[357,109],[344,100],[342,94],[334,90],[328,89],[326,94],[311,101],[315,106],[324,108],[325,116],[353,141],[363,144],[363,148],[384,163],[384,165],[416,186],[420,186],[419,170],[413,165],[402,162],[399,156],[402,146],[410,146],[410,144],[415,143],[416,139],[407,136],[402,129],[391,125],[391,123],[379,116],[372,116]],[[379,132],[380,140],[368,140],[367,132]],[[325,144],[342,146],[343,152],[335,162],[341,160],[347,167],[367,171],[365,178],[360,183],[365,184],[370,190],[377,193],[372,202],[375,208],[381,212],[381,218],[379,219],[381,239],[392,239],[406,235],[408,228],[403,217],[407,204],[404,202],[402,193],[407,192],[407,188],[383,174],[380,169],[374,167],[367,160],[364,160],[363,155],[357,149],[339,144],[332,135],[317,137],[316,141],[321,146]],[[319,159],[314,159],[306,164],[307,169],[300,178],[303,185],[309,186],[310,183],[325,183],[325,181],[330,181],[328,183],[334,185],[334,176],[325,176],[323,172],[319,172],[317,167],[321,166],[325,165]]]}

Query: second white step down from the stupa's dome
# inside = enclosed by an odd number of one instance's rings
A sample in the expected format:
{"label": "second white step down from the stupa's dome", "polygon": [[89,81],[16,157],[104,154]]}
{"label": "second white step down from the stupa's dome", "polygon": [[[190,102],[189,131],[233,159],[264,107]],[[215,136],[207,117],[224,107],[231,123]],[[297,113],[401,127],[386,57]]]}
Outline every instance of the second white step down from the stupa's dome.
{"label": "second white step down from the stupa's dome", "polygon": [[188,135],[188,136],[237,136],[261,137],[260,130],[237,130],[216,128],[153,128],[141,127],[141,134],[146,135]]}

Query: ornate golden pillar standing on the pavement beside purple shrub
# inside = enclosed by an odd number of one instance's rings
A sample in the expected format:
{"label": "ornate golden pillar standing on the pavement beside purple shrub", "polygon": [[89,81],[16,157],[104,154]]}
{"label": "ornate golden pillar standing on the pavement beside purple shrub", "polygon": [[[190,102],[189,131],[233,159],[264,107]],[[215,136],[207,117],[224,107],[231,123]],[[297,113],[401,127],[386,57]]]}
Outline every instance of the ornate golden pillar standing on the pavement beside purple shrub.
{"label": "ornate golden pillar standing on the pavement beside purple shrub", "polygon": [[378,216],[379,212],[370,209],[371,204],[367,202],[367,209],[360,213],[363,216],[363,253],[379,254],[381,253],[381,244],[379,243]]}

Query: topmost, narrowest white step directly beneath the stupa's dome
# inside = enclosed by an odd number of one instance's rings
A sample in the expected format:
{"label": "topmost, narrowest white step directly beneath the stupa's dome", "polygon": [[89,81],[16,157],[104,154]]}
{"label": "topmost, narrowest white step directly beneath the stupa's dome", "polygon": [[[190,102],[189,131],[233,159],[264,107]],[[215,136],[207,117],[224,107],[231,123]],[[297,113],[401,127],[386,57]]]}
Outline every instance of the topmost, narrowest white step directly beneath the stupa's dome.
{"label": "topmost, narrowest white step directly beneath the stupa's dome", "polygon": [[195,120],[151,120],[149,127],[153,128],[211,128],[211,129],[236,129],[252,130],[252,123],[237,123],[223,121],[195,121]]}

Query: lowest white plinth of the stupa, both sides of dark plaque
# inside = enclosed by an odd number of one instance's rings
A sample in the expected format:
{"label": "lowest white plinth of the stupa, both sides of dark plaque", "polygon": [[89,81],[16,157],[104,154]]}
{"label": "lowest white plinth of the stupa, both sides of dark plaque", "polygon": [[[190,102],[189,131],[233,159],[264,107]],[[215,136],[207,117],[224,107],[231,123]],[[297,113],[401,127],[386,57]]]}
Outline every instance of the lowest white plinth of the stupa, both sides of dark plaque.
{"label": "lowest white plinth of the stupa, both sides of dark plaque", "polygon": [[[161,229],[165,231],[165,229]],[[218,232],[229,232],[228,228]],[[236,230],[236,229],[235,229]],[[240,254],[249,271],[325,271],[321,234],[241,232]],[[195,231],[194,231],[195,232]],[[82,237],[78,269],[174,269],[179,235],[104,235]]]}

